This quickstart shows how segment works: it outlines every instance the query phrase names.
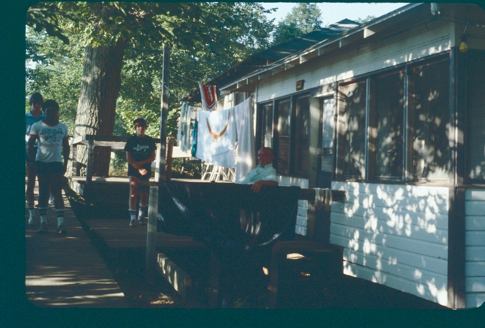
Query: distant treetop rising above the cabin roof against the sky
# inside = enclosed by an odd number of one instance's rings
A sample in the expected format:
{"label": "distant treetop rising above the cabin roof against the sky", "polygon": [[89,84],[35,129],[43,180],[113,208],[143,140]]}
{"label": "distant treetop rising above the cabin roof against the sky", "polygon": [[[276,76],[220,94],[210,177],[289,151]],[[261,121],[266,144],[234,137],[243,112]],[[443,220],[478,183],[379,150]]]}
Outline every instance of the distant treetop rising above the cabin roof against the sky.
{"label": "distant treetop rising above the cabin roof against the sky", "polygon": [[278,22],[273,32],[273,44],[295,38],[320,28],[321,11],[316,3],[299,3]]}

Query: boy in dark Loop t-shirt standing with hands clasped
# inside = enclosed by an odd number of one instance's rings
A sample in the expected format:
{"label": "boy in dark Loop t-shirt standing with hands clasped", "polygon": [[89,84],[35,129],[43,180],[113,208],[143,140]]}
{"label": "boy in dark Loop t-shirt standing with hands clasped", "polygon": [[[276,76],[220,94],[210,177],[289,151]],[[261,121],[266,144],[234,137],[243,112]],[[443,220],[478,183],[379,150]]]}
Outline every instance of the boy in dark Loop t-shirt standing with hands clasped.
{"label": "boy in dark Loop t-shirt standing with hands clasped", "polygon": [[[130,180],[130,197],[129,213],[130,227],[138,224],[144,224],[143,216],[148,209],[148,186],[138,185],[138,181],[148,181],[152,176],[152,162],[155,160],[155,139],[145,134],[147,121],[138,117],[133,121],[136,134],[132,135],[126,141],[124,150],[126,151],[126,160],[128,161],[128,177]],[[140,204],[138,210],[138,222],[136,220],[136,201],[140,195]]]}

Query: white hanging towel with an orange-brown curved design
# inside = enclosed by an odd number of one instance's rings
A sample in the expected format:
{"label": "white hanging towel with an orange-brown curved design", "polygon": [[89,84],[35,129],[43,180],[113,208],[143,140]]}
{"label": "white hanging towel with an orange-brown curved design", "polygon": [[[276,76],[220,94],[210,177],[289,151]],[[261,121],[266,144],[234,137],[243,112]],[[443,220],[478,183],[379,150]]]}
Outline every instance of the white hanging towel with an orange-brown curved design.
{"label": "white hanging towel with an orange-brown curved design", "polygon": [[234,167],[236,125],[233,108],[199,111],[196,157],[223,167]]}

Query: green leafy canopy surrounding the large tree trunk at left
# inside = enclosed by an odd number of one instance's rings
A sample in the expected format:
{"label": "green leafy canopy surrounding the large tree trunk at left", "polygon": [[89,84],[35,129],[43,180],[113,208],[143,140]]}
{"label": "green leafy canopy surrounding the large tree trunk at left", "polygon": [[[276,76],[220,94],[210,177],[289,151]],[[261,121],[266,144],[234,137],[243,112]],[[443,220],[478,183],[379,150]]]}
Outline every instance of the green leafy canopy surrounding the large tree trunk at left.
{"label": "green leafy canopy surrounding the large tree trunk at left", "polygon": [[27,13],[27,97],[40,91],[61,105],[72,129],[83,53],[128,40],[117,100],[115,134],[132,133],[144,116],[157,136],[162,49],[171,44],[169,134],[174,134],[179,98],[269,45],[273,29],[258,3],[39,3]]}

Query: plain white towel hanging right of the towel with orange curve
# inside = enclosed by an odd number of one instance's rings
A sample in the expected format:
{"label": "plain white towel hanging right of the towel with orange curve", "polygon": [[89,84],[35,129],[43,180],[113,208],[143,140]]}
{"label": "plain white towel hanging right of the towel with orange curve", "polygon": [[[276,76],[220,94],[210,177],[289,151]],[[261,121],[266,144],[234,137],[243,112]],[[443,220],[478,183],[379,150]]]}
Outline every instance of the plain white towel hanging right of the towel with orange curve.
{"label": "plain white towel hanging right of the towel with orange curve", "polygon": [[236,183],[251,171],[256,163],[255,140],[253,133],[253,106],[251,97],[234,106],[237,128]]}

